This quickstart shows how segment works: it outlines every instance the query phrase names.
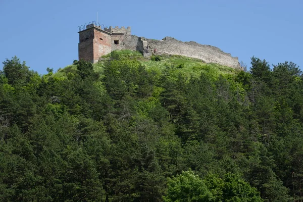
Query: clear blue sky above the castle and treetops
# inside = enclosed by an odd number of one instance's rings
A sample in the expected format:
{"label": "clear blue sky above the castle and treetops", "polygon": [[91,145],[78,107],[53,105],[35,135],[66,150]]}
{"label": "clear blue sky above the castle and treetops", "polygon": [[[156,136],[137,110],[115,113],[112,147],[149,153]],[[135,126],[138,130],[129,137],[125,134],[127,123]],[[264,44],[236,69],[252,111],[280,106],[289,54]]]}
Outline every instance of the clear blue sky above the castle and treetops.
{"label": "clear blue sky above the castle and treetops", "polygon": [[248,67],[252,56],[303,67],[302,11],[301,0],[0,0],[0,61],[16,55],[40,74],[70,65],[78,59],[77,27],[98,12],[105,26],[214,45]]}

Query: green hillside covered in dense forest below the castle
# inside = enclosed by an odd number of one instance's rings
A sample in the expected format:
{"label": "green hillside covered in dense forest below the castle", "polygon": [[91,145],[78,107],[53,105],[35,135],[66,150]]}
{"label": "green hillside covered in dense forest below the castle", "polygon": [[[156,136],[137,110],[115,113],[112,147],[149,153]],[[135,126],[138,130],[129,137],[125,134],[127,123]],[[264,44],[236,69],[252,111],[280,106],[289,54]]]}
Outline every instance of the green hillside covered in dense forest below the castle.
{"label": "green hillside covered in dense forest below the castle", "polygon": [[1,201],[303,201],[303,75],[113,52],[0,71]]}

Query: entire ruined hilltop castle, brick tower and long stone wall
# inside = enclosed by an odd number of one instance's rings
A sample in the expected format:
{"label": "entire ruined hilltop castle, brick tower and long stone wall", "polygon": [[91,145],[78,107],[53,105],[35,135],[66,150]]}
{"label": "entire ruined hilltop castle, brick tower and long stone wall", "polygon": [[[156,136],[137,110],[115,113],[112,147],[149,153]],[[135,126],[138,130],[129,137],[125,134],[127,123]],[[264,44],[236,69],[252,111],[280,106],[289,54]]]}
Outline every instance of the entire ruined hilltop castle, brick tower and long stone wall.
{"label": "entire ruined hilltop castle, brick tower and long stone wall", "polygon": [[237,57],[224,53],[220,48],[211,45],[202,45],[194,41],[183,42],[172,37],[162,40],[147,39],[131,35],[130,27],[109,27],[102,29],[95,23],[79,29],[79,60],[84,59],[92,63],[99,61],[101,56],[115,50],[130,49],[138,51],[143,56],[156,54],[170,54],[186,56],[203,60],[206,63],[216,63],[235,69],[240,69]]}

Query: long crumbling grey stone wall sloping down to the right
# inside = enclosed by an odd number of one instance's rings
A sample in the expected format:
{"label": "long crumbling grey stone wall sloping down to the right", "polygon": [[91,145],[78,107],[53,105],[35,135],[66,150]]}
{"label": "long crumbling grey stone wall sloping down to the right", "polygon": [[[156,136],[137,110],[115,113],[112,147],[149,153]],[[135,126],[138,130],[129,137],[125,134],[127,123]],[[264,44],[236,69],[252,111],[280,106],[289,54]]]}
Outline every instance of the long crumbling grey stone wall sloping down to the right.
{"label": "long crumbling grey stone wall sloping down to the right", "polygon": [[147,41],[151,50],[157,48],[158,54],[171,54],[197,58],[206,63],[217,63],[220,65],[240,69],[237,57],[224,53],[220,48],[211,45],[201,45],[190,41],[182,42],[171,37],[165,37],[163,40],[143,39]]}

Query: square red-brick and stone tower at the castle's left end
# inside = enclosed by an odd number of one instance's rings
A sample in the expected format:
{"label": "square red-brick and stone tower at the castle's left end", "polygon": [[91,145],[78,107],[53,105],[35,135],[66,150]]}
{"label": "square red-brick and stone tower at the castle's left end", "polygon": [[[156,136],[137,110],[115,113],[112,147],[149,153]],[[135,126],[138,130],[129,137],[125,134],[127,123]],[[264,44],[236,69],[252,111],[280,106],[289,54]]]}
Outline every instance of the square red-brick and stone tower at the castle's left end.
{"label": "square red-brick and stone tower at the castle's left end", "polygon": [[84,59],[85,61],[96,63],[101,56],[112,52],[112,33],[101,29],[100,26],[89,24],[86,29],[78,33],[79,60]]}

